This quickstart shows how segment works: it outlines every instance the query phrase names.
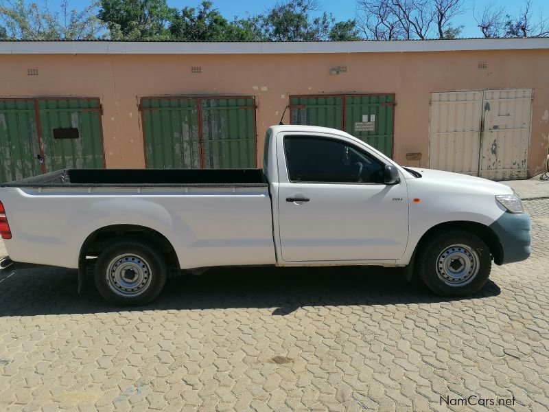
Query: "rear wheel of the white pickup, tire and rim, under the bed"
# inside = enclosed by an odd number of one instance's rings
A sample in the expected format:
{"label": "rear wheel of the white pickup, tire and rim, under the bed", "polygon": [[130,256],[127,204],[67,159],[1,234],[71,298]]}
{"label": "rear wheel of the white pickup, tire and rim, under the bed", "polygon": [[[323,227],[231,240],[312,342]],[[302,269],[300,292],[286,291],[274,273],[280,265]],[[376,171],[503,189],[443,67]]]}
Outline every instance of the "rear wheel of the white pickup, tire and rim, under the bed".
{"label": "rear wheel of the white pickup, tire and rim, under the bed", "polygon": [[97,290],[110,304],[142,306],[163,289],[167,266],[164,256],[150,244],[121,239],[108,244],[99,255],[94,277]]}

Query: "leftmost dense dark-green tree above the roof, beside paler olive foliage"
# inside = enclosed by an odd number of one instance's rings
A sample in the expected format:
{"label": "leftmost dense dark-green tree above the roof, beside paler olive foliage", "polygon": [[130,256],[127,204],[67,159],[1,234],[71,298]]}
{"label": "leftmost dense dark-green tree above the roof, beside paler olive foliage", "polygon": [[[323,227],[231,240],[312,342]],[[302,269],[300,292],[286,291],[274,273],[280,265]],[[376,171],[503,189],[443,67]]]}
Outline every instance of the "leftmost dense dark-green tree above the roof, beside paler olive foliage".
{"label": "leftmost dense dark-green tree above the roof, beside paler olive foliage", "polygon": [[167,40],[172,14],[166,0],[100,0],[97,16],[112,40]]}

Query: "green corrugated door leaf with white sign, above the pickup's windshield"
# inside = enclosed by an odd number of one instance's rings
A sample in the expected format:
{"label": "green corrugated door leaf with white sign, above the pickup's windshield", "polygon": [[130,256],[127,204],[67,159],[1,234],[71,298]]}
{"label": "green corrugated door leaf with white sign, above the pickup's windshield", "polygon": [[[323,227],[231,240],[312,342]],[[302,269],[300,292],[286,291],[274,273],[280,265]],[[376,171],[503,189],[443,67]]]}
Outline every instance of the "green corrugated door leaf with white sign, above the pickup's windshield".
{"label": "green corrugated door leaf with white sign, above the pickup's windshield", "polygon": [[384,155],[393,155],[394,95],[345,96],[345,128]]}

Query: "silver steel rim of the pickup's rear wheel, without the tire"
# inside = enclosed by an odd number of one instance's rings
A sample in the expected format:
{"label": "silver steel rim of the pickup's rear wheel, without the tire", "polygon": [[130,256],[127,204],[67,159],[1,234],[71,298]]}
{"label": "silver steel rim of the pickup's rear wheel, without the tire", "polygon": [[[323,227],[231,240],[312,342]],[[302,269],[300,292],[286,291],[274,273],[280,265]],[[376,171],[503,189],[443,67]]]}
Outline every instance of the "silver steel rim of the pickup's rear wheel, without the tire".
{"label": "silver steel rim of the pickup's rear wheel, without the tire", "polygon": [[107,266],[106,281],[110,290],[124,297],[139,296],[150,286],[152,272],[139,255],[124,253]]}

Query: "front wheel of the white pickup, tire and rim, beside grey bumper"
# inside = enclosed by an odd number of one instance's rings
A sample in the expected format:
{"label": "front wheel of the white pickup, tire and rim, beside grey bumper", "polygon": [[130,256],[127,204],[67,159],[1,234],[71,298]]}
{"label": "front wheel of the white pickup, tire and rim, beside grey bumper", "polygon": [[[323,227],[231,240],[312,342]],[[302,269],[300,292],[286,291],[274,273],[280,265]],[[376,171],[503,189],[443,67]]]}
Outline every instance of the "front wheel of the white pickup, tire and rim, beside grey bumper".
{"label": "front wheel of the white pickup, tire and rim, beside grey bumper", "polygon": [[481,238],[468,231],[451,230],[436,233],[425,242],[416,262],[419,277],[434,293],[460,297],[473,295],[486,284],[491,261]]}

